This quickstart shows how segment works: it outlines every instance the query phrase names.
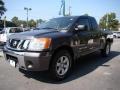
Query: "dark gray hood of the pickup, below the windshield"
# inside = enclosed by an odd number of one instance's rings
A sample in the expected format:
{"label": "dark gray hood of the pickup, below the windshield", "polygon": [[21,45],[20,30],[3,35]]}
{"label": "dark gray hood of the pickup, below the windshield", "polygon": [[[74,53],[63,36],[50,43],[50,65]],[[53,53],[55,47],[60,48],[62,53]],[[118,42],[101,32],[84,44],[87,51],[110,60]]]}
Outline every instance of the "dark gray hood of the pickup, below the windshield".
{"label": "dark gray hood of the pickup, below the windshield", "polygon": [[33,30],[33,31],[26,31],[21,33],[12,34],[9,38],[13,39],[32,39],[35,37],[54,37],[56,35],[60,35],[60,32],[54,29],[41,29],[41,30]]}

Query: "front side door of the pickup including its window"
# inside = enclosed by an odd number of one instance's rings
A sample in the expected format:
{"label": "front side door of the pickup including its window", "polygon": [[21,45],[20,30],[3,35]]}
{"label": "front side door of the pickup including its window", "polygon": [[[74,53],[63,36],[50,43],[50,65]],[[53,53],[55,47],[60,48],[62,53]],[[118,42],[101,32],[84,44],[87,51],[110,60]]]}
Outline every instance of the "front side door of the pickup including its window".
{"label": "front side door of the pickup including its window", "polygon": [[85,55],[91,52],[92,38],[90,32],[89,19],[81,18],[78,20],[77,25],[84,25],[83,30],[78,30],[78,39],[79,39],[79,53],[80,55]]}

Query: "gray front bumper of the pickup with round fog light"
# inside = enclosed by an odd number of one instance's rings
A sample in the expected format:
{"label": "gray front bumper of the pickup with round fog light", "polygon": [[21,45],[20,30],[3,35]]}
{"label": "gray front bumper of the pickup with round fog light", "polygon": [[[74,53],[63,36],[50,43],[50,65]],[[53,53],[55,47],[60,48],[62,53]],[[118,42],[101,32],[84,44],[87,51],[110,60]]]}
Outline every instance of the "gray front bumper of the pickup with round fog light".
{"label": "gray front bumper of the pickup with round fog light", "polygon": [[[44,71],[49,69],[51,55],[49,52],[18,52],[4,47],[5,60],[14,60],[17,67],[27,71]],[[30,66],[31,65],[31,66]]]}

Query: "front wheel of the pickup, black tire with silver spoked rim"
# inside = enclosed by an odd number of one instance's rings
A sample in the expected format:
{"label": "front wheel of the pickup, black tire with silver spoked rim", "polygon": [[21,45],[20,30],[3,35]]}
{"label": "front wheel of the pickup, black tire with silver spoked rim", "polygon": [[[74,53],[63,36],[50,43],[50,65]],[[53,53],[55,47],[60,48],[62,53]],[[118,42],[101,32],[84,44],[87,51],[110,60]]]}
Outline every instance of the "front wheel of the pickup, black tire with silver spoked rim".
{"label": "front wheel of the pickup, black tire with silver spoked rim", "polygon": [[[64,59],[67,58],[66,59],[67,62],[66,63],[61,63],[62,58],[64,58]],[[65,69],[68,65],[68,62],[69,62],[68,69]],[[64,67],[65,64],[66,64],[66,67]],[[57,65],[59,65],[59,66],[57,66]],[[54,80],[57,80],[57,81],[63,80],[70,74],[71,67],[72,67],[72,57],[71,57],[70,53],[67,50],[60,50],[52,58],[52,62],[51,62],[51,65],[50,65],[51,77]],[[61,73],[63,71],[65,71],[65,73],[60,75],[60,72],[58,72],[58,71],[61,68],[64,69],[64,70],[61,70]],[[57,70],[57,69],[59,69],[59,70]]]}

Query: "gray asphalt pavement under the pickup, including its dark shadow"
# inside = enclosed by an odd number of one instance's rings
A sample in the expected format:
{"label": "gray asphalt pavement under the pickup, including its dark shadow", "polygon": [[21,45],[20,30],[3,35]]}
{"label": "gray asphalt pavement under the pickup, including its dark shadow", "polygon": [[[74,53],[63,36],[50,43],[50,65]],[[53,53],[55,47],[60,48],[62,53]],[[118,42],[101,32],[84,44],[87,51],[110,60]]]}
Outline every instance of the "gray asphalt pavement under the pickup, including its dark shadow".
{"label": "gray asphalt pavement under the pickup, including its dark shadow", "polygon": [[47,71],[11,67],[1,55],[0,90],[120,90],[120,39],[114,40],[109,57],[99,52],[81,57],[71,75],[60,82],[51,80]]}

